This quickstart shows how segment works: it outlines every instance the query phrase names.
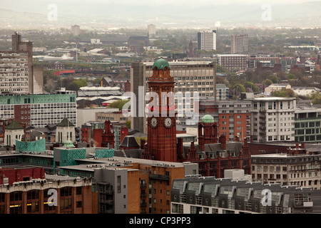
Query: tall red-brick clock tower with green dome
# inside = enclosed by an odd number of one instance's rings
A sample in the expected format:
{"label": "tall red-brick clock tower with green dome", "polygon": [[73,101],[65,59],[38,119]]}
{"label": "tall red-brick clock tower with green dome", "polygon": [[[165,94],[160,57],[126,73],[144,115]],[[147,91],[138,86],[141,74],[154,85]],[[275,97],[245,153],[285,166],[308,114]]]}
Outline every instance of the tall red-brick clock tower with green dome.
{"label": "tall red-brick clock tower with green dome", "polygon": [[148,109],[148,153],[153,160],[177,162],[174,78],[168,61],[160,58],[153,64],[148,81],[151,94]]}

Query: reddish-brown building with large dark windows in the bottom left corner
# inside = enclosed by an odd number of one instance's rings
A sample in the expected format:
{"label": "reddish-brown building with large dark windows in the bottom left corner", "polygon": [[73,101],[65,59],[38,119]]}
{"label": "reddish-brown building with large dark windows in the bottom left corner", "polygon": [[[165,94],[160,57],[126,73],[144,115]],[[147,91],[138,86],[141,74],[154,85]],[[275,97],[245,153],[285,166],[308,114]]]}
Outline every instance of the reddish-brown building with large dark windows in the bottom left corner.
{"label": "reddish-brown building with large dark windows in the bottom left corner", "polygon": [[50,175],[0,185],[0,214],[96,214],[91,186],[91,178],[60,180]]}

